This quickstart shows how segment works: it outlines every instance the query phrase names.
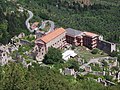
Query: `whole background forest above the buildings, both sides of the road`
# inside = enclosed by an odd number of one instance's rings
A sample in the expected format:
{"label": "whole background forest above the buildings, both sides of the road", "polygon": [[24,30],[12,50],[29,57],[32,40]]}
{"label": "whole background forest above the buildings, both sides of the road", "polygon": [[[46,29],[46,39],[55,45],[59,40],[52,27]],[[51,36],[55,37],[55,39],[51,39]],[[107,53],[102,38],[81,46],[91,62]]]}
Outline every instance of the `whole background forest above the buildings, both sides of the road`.
{"label": "whole background forest above the buildings, both sides of the road", "polygon": [[[27,12],[18,12],[17,4],[34,13],[34,21],[53,20],[56,27],[91,31],[108,41],[120,43],[120,1],[90,0],[11,0],[0,1],[0,43],[7,44],[20,32],[29,34],[25,26]],[[83,0],[84,1],[84,0]]]}

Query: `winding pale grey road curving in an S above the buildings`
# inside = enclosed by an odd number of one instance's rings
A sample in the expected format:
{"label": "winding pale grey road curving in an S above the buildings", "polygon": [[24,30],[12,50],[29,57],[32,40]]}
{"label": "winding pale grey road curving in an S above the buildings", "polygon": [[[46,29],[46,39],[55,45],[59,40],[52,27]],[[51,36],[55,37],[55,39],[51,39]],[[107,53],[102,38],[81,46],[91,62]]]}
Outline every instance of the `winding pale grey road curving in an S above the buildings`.
{"label": "winding pale grey road curving in an S above the buildings", "polygon": [[37,30],[39,30],[39,29],[44,29],[47,22],[50,23],[50,25],[51,25],[51,27],[50,27],[50,29],[48,30],[47,33],[49,33],[49,32],[51,32],[51,31],[54,30],[55,24],[54,24],[53,21],[50,21],[50,20],[43,21],[41,26],[39,26],[38,28],[32,30],[32,29],[30,28],[30,22],[29,22],[29,21],[33,18],[33,13],[32,13],[31,11],[29,11],[29,10],[27,10],[27,12],[28,12],[28,14],[29,14],[29,17],[28,17],[27,20],[25,21],[25,25],[26,25],[27,29],[28,29],[30,32],[34,32],[34,31],[37,31]]}

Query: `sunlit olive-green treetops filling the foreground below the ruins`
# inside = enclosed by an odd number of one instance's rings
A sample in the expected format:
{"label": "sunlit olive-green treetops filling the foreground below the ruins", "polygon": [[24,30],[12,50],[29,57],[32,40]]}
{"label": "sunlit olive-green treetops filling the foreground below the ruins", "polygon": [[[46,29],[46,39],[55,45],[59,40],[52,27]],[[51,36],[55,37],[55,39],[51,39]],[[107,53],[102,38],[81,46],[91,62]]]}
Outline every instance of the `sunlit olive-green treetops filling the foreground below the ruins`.
{"label": "sunlit olive-green treetops filling the foreground below the ruins", "polygon": [[28,68],[20,63],[0,67],[0,90],[119,90],[104,87],[91,79],[75,80],[48,67],[33,64]]}

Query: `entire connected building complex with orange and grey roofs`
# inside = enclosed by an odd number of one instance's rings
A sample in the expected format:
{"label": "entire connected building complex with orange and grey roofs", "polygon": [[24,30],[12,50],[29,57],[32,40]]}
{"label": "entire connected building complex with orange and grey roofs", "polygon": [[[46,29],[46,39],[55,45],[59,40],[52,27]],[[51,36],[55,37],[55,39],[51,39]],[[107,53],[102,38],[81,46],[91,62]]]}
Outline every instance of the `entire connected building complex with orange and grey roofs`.
{"label": "entire connected building complex with orange and grey roofs", "polygon": [[42,61],[49,47],[62,49],[67,44],[85,46],[89,49],[99,48],[108,54],[116,50],[115,44],[102,40],[101,36],[95,33],[82,32],[72,28],[57,28],[38,37],[33,52],[35,52],[37,61]]}

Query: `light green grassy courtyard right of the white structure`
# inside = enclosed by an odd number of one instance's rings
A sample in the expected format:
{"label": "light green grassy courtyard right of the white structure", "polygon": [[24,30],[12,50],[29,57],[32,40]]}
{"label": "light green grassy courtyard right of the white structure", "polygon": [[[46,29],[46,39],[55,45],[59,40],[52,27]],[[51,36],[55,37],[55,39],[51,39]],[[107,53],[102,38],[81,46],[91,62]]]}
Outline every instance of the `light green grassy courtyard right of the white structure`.
{"label": "light green grassy courtyard right of the white structure", "polygon": [[86,61],[89,61],[92,58],[98,58],[98,57],[104,57],[107,56],[107,54],[92,54],[91,50],[87,50],[85,47],[76,47],[75,52],[80,56],[81,58],[85,59]]}

